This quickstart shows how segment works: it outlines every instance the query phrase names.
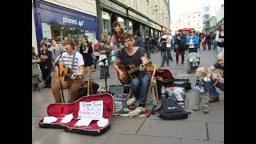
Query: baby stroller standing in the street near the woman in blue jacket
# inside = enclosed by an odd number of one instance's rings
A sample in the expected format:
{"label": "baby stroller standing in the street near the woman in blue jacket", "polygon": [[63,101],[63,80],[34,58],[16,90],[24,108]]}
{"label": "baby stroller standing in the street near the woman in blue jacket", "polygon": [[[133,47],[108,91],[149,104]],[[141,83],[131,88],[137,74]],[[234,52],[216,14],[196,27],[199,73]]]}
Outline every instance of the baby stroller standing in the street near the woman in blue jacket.
{"label": "baby stroller standing in the street near the woman in blue jacket", "polygon": [[200,64],[200,56],[198,53],[190,53],[187,58],[187,74],[191,73],[191,70],[196,70]]}

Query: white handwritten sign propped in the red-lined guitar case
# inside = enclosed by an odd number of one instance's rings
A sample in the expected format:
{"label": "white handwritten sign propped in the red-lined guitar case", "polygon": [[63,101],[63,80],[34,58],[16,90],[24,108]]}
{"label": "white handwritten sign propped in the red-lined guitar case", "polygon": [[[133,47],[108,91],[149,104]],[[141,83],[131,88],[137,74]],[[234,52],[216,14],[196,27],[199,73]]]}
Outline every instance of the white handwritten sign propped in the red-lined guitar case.
{"label": "white handwritten sign propped in the red-lined guitar case", "polygon": [[103,101],[79,102],[78,119],[102,118]]}

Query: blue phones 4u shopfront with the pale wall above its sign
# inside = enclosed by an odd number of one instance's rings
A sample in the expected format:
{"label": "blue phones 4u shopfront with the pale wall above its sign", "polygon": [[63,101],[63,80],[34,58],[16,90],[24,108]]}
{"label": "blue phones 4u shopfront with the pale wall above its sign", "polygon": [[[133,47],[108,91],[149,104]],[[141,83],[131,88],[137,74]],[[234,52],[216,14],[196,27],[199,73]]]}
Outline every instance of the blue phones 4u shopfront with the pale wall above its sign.
{"label": "blue phones 4u shopfront with the pale wall above its sign", "polygon": [[99,35],[95,0],[34,0],[34,22],[38,50],[43,38],[58,43],[70,38],[78,46],[83,35]]}

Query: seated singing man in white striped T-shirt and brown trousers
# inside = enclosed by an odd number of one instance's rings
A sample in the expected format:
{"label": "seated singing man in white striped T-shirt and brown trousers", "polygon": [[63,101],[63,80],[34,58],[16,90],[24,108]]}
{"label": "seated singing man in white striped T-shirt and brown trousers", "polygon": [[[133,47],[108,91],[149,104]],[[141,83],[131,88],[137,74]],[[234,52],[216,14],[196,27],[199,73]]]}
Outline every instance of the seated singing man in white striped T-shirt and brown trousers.
{"label": "seated singing man in white striped T-shirt and brown trousers", "polygon": [[[78,94],[78,91],[83,87],[82,79],[77,79],[74,77],[75,74],[83,75],[84,73],[84,61],[82,58],[82,54],[78,53],[74,50],[74,41],[67,39],[65,42],[65,49],[66,52],[64,52],[59,58],[59,63],[70,67],[72,70],[72,76],[68,78],[67,81],[61,81],[62,82],[62,89],[66,90],[70,88],[70,99],[68,102],[74,102],[76,95]],[[57,67],[57,66],[56,66]],[[54,99],[56,103],[61,103],[61,86],[58,78],[58,69],[55,68],[55,74],[54,74],[54,83],[52,86],[52,93],[54,95]]]}

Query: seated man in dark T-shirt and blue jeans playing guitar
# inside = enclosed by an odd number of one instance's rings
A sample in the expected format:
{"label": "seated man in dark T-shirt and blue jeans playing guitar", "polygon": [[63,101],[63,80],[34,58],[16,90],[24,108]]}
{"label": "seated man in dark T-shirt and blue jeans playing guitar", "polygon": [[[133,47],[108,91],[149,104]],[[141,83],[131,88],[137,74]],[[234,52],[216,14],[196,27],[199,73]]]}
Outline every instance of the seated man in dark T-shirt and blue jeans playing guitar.
{"label": "seated man in dark T-shirt and blue jeans playing guitar", "polygon": [[125,78],[125,74],[122,70],[118,69],[118,65],[126,66],[133,64],[135,67],[140,66],[140,70],[136,71],[134,78],[131,79],[131,89],[133,98],[130,98],[126,104],[128,106],[132,105],[138,100],[138,107],[131,111],[131,116],[138,116],[143,111],[145,111],[145,101],[147,90],[150,86],[150,72],[146,71],[145,64],[147,63],[147,58],[145,57],[144,50],[142,47],[134,46],[134,38],[131,34],[122,35],[122,44],[126,46],[125,50],[122,50],[114,62],[114,69],[118,71],[119,79]]}

